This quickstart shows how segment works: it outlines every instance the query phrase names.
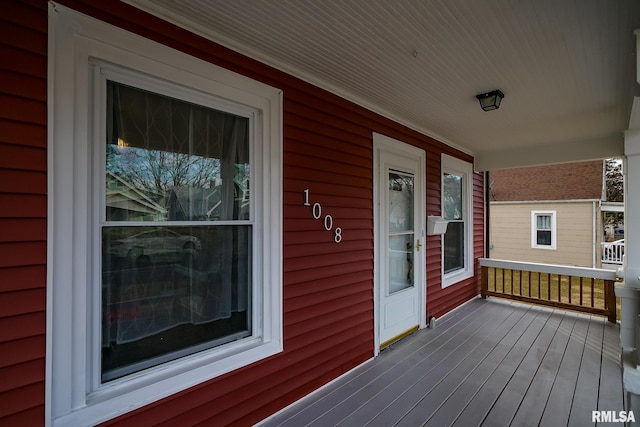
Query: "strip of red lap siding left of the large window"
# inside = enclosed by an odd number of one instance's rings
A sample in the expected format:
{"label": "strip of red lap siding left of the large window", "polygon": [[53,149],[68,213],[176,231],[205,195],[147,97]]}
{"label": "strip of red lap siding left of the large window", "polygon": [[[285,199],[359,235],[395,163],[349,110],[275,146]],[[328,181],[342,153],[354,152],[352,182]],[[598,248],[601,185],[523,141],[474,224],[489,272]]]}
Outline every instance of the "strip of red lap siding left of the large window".
{"label": "strip of red lap siding left of the large window", "polygon": [[47,5],[0,15],[0,425],[44,420]]}

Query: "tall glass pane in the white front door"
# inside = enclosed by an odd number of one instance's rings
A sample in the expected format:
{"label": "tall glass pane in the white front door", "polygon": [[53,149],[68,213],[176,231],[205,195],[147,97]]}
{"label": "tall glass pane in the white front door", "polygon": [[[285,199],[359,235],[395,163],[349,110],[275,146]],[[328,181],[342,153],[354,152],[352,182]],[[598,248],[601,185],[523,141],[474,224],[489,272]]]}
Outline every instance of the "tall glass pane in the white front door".
{"label": "tall glass pane in the white front door", "polygon": [[413,286],[414,177],[389,173],[389,294]]}

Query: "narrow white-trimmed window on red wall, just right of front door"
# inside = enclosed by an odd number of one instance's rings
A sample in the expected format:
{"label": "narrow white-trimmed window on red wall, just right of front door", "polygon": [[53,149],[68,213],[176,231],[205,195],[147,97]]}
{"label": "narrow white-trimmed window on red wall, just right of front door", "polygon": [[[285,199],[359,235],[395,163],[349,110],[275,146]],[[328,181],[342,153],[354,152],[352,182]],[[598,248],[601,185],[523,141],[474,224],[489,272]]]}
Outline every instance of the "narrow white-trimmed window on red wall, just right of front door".
{"label": "narrow white-trimmed window on red wall, just right of front door", "polygon": [[443,286],[473,275],[472,179],[471,163],[442,155],[442,216],[448,221],[442,237]]}

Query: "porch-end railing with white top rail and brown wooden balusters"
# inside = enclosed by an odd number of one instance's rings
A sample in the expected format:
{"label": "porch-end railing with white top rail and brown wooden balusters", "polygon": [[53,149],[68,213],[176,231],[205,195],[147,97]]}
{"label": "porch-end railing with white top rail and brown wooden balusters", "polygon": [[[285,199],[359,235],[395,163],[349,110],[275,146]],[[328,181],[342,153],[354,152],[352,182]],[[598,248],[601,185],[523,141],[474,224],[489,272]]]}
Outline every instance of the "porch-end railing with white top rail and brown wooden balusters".
{"label": "porch-end railing with white top rail and brown wooden balusters", "polygon": [[483,298],[533,304],[617,317],[612,270],[480,258]]}

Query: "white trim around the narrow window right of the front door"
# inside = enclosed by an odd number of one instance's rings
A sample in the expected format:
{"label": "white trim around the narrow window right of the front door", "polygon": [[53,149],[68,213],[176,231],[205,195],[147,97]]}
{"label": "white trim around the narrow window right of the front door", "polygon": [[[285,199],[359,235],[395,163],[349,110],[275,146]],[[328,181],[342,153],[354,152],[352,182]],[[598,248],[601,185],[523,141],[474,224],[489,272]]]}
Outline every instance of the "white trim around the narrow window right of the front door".
{"label": "white trim around the narrow window right of the front door", "polygon": [[441,177],[440,177],[440,194],[441,194],[441,206],[444,205],[444,180],[442,175],[444,173],[454,173],[463,176],[462,187],[462,202],[465,215],[465,248],[464,248],[464,268],[460,270],[452,271],[449,273],[444,272],[444,235],[441,238],[441,261],[440,272],[442,274],[442,287],[446,288],[453,284],[459,283],[462,280],[473,277],[473,164],[460,160],[456,157],[442,154],[441,157]]}

